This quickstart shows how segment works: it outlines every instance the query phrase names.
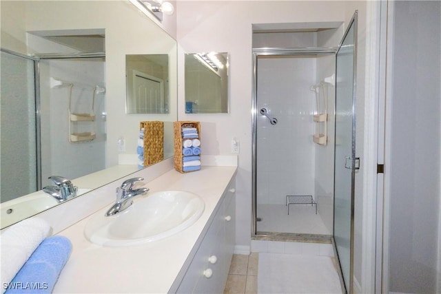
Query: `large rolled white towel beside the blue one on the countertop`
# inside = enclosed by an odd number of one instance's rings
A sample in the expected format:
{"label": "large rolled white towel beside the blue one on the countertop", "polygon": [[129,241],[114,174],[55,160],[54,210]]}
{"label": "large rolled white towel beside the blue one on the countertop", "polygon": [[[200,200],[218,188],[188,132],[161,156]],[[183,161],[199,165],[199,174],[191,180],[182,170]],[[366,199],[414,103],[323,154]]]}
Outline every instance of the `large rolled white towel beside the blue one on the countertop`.
{"label": "large rolled white towel beside the blue one on the countertop", "polygon": [[[1,233],[1,284],[9,283],[49,234],[50,225],[39,218],[28,218]],[[5,292],[3,287],[3,292]]]}

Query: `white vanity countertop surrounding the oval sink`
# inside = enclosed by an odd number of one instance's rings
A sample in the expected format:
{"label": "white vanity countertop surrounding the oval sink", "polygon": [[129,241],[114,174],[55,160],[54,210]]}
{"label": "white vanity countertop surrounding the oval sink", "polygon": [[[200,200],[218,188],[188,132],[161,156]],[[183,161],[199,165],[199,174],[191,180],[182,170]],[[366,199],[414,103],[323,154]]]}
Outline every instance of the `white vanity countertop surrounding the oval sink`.
{"label": "white vanity countertop surrounding the oval sink", "polygon": [[[199,220],[163,240],[126,247],[92,244],[83,233],[90,216],[61,231],[73,249],[53,293],[167,293],[235,174],[236,167],[202,167],[187,174],[173,169],[147,182],[150,192],[189,191],[205,202]],[[133,205],[148,195],[137,196]]]}

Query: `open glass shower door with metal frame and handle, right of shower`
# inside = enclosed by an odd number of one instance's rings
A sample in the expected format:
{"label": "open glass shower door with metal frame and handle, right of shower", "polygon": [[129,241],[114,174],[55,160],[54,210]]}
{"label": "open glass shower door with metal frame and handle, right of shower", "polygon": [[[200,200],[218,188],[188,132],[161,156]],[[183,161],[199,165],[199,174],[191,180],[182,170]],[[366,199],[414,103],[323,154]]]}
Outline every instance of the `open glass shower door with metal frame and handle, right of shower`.
{"label": "open glass shower door with metal frame and handle, right of shower", "polygon": [[334,241],[347,293],[353,288],[353,211],[356,158],[357,12],[336,54]]}

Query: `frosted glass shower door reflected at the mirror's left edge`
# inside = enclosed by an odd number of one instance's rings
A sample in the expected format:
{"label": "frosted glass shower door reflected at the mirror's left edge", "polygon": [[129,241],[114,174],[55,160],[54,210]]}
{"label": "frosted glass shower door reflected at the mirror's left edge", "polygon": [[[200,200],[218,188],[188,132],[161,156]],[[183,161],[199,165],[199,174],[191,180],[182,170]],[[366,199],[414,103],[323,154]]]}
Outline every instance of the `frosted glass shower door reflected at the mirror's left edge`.
{"label": "frosted glass shower door reflected at the mirror's left edge", "polygon": [[1,52],[1,201],[37,191],[34,61]]}

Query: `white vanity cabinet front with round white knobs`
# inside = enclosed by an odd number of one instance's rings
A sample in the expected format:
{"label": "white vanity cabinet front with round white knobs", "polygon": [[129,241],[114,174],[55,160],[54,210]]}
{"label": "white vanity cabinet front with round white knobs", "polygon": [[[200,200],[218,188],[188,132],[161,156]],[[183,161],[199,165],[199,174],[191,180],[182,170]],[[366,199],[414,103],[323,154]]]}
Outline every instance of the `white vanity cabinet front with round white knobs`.
{"label": "white vanity cabinet front with round white knobs", "polygon": [[233,178],[176,293],[223,293],[236,239],[235,189]]}

